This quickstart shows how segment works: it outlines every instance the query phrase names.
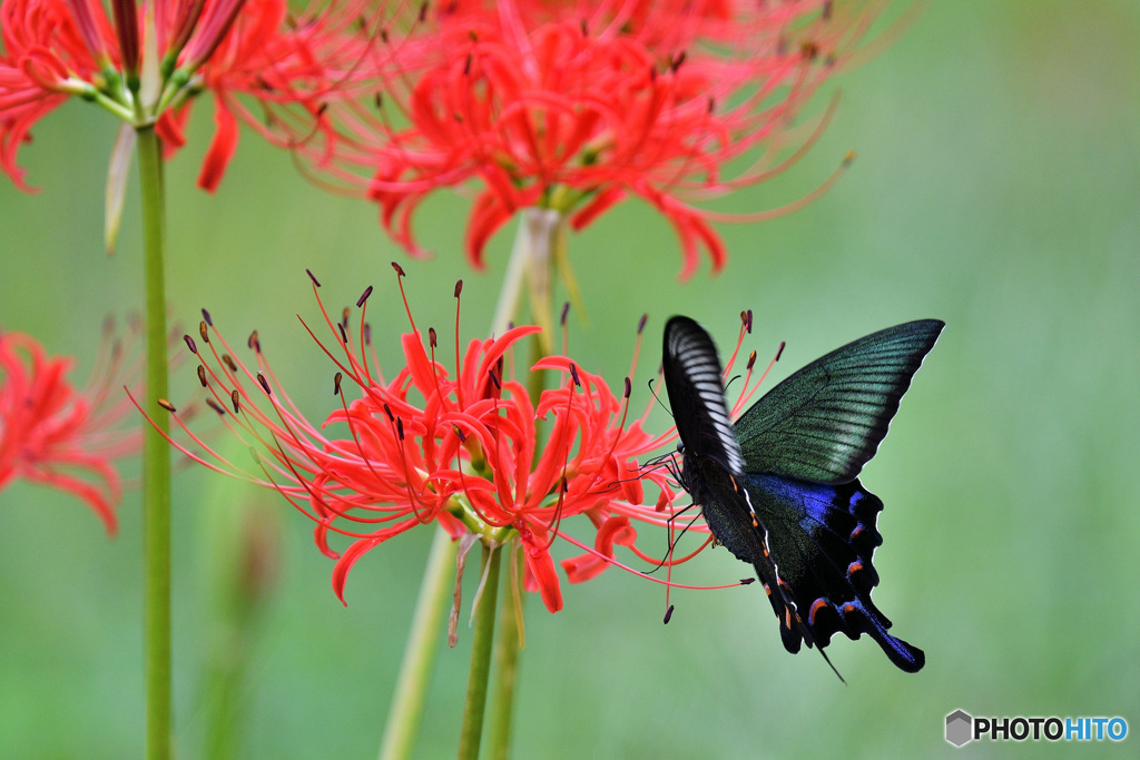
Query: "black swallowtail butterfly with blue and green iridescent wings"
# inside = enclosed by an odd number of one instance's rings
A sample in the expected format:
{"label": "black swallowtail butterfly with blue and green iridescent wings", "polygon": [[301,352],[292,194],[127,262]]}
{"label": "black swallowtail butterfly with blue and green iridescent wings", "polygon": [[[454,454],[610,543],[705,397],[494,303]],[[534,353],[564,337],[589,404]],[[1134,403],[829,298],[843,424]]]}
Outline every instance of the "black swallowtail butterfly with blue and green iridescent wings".
{"label": "black swallowtail butterfly with blue and green iridescent wings", "polygon": [[943,327],[922,319],[848,343],[776,385],[735,424],[712,338],[687,317],[665,327],[678,481],[717,542],[756,567],[788,652],[806,643],[831,665],[823,647],[842,631],[870,635],[906,672],[926,663],[922,649],[887,632],[890,621],[871,602],[882,501],[858,474]]}

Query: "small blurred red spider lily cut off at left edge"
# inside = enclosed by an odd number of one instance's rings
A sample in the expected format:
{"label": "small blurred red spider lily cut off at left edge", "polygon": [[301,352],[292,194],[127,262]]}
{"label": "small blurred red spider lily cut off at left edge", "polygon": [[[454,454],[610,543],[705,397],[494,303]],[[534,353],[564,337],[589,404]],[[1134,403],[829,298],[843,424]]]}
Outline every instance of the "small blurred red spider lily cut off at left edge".
{"label": "small blurred red spider lily cut off at left edge", "polygon": [[[138,337],[132,326],[132,340]],[[24,333],[0,333],[0,490],[17,479],[75,495],[111,534],[122,492],[114,460],[136,453],[138,427],[119,425],[130,410],[115,390],[138,387],[139,357],[112,340],[108,322],[96,368],[83,389],[67,381],[74,360],[49,357]]]}

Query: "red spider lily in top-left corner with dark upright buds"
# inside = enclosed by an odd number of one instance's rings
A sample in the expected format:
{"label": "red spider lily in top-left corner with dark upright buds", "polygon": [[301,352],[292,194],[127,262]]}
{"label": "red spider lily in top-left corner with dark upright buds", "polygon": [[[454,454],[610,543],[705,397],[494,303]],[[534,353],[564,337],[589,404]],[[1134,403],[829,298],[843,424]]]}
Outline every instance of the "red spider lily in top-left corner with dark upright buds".
{"label": "red spider lily in top-left corner with dark upright buds", "polygon": [[[113,0],[108,17],[99,0],[0,0],[0,170],[30,189],[17,150],[68,96],[135,125],[157,120],[169,153],[184,144],[192,99],[209,90],[217,129],[198,185],[213,190],[237,145],[238,119],[283,145],[320,129],[323,105],[357,63],[359,46],[349,41],[361,33],[364,2],[296,15],[285,0],[156,0],[140,14],[135,0]],[[296,108],[283,111],[288,105]]]}

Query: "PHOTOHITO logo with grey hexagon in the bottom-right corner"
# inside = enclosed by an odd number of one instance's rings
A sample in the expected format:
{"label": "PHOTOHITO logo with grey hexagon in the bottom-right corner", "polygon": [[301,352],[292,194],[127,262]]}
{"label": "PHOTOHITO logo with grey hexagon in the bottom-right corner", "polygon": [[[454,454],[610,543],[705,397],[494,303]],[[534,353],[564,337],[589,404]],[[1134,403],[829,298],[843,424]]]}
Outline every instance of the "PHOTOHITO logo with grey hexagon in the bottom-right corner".
{"label": "PHOTOHITO logo with grey hexagon in the bottom-right corner", "polygon": [[964,710],[946,716],[946,741],[962,746],[975,739],[991,742],[1123,742],[1129,721],[1105,718],[975,718]]}

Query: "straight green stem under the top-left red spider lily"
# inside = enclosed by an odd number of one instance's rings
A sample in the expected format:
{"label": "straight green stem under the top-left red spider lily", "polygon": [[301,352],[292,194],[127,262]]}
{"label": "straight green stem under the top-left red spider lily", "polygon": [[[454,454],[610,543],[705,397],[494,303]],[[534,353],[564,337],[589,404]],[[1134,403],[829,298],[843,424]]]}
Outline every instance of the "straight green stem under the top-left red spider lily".
{"label": "straight green stem under the top-left red spider lily", "polygon": [[170,758],[170,449],[166,414],[166,221],[162,155],[153,128],[138,130],[146,279],[146,407],[142,426],[142,523],[146,610],[146,757]]}

